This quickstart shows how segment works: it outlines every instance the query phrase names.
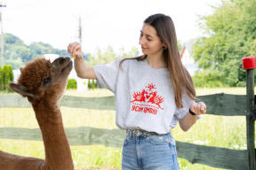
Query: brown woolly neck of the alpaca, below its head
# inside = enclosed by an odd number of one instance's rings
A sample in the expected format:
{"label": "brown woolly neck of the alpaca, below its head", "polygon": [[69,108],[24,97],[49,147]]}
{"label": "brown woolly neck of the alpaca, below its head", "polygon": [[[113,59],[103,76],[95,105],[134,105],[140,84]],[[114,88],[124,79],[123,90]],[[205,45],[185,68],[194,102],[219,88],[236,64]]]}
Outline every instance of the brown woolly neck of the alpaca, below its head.
{"label": "brown woolly neck of the alpaca, below its head", "polygon": [[45,105],[43,102],[33,105],[44,141],[44,166],[51,169],[74,169],[60,108],[51,109]]}

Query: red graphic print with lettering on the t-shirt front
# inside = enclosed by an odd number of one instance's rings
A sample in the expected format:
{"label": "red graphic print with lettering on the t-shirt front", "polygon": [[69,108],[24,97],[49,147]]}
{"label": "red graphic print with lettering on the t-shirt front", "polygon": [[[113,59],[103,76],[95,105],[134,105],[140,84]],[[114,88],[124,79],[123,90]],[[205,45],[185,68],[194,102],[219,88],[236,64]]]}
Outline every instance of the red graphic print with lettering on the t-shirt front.
{"label": "red graphic print with lettering on the t-shirt front", "polygon": [[132,111],[157,113],[158,109],[164,110],[160,104],[164,102],[164,97],[157,95],[156,85],[148,84],[142,92],[134,92],[132,103]]}

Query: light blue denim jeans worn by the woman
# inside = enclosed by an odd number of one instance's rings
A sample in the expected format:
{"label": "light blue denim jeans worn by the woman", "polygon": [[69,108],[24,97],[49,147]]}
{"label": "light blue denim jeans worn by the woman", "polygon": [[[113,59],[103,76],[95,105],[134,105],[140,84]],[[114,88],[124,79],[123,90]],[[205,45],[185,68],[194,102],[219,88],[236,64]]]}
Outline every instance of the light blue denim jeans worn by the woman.
{"label": "light blue denim jeans worn by the woman", "polygon": [[128,134],[122,152],[123,170],[179,170],[175,141],[165,135]]}

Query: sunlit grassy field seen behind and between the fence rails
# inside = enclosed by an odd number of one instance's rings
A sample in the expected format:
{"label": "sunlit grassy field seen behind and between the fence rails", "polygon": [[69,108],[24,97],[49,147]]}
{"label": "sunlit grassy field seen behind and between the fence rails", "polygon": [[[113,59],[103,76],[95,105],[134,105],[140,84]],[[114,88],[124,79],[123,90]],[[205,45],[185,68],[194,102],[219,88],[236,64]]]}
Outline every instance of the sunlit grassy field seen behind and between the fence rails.
{"label": "sunlit grassy field seen behind and between the fence rails", "polygon": [[[244,88],[196,89],[197,96],[224,92],[226,94],[244,95]],[[107,89],[94,89],[87,92],[68,90],[65,95],[79,97],[113,96]],[[1,97],[1,96],[0,96]],[[68,127],[117,128],[114,111],[98,111],[79,108],[60,108],[63,123]],[[32,108],[0,108],[0,127],[38,128]],[[172,130],[172,136],[180,142],[197,143],[229,149],[246,149],[245,117],[224,117],[204,115],[188,132],[179,126]],[[24,140],[1,140],[0,150],[13,154],[44,158],[42,142]],[[95,146],[71,146],[77,170],[82,169],[121,169],[122,149]],[[214,170],[199,164],[190,164],[186,159],[178,158],[181,170]]]}

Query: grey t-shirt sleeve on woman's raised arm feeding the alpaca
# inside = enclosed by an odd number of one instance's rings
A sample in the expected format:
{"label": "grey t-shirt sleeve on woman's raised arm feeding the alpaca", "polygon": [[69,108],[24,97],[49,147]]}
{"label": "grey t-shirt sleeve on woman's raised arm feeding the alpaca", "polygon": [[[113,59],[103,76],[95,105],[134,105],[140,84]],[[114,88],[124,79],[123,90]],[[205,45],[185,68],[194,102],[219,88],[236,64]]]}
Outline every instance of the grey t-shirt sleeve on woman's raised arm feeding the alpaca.
{"label": "grey t-shirt sleeve on woman's raised arm feeding the alpaca", "polygon": [[119,73],[120,60],[107,65],[92,66],[100,89],[105,88],[116,94],[116,81]]}

